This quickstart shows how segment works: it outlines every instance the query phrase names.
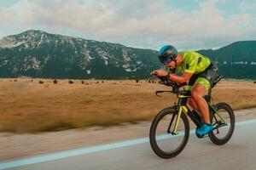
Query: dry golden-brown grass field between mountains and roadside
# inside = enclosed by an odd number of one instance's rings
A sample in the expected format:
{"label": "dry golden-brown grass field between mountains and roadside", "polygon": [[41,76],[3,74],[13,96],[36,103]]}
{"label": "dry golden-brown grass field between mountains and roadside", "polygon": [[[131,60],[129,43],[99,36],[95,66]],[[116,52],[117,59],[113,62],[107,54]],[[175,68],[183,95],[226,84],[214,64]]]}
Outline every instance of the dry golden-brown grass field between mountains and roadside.
{"label": "dry golden-brown grass field between mountains and roadside", "polygon": [[[176,99],[174,94],[156,97],[155,90],[169,88],[145,81],[38,81],[0,80],[0,132],[38,133],[151,121]],[[224,101],[235,110],[256,107],[256,83],[222,81],[212,96],[214,103]]]}

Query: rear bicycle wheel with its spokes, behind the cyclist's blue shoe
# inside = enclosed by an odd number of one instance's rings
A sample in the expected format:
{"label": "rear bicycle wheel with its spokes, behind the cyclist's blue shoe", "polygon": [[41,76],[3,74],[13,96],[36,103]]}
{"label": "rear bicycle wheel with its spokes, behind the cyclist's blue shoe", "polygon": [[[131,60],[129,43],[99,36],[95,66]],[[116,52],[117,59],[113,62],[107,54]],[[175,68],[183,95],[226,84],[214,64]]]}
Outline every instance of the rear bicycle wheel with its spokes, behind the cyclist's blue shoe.
{"label": "rear bicycle wheel with its spokes, behind the cyclist's blue shoe", "polygon": [[215,113],[212,117],[214,130],[208,134],[213,144],[226,144],[230,140],[235,129],[234,112],[230,105],[226,103],[218,103],[215,105],[215,109],[218,111],[218,114]]}

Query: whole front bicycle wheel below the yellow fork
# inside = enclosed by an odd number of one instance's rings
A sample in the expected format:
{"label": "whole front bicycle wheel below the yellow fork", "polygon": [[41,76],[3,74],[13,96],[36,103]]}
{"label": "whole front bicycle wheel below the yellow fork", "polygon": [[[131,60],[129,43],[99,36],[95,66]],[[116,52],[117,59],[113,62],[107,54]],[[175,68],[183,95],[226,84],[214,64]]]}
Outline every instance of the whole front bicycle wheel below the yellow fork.
{"label": "whole front bicycle wheel below the yellow fork", "polygon": [[189,120],[182,112],[177,133],[173,133],[177,111],[166,108],[154,117],[149,132],[149,140],[154,153],[165,159],[177,156],[189,140]]}

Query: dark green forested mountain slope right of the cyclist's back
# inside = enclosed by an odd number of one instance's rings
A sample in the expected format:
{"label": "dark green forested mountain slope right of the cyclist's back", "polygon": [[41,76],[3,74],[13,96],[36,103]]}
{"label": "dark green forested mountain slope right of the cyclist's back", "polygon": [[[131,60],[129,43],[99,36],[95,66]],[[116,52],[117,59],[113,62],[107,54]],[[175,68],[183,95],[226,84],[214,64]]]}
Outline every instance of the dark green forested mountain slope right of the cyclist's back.
{"label": "dark green forested mountain slope right of the cyclist's back", "polygon": [[233,42],[216,50],[199,50],[218,64],[224,77],[256,79],[256,41]]}

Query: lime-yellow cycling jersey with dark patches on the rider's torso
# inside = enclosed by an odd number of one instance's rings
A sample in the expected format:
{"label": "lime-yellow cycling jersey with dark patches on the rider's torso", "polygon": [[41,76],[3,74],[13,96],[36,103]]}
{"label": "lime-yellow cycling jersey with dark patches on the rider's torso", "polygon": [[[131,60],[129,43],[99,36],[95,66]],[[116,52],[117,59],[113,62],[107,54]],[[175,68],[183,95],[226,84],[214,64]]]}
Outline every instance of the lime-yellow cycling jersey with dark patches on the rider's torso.
{"label": "lime-yellow cycling jersey with dark patches on the rider's torso", "polygon": [[211,64],[210,59],[195,51],[183,51],[179,54],[183,54],[183,63],[177,65],[177,71],[179,72],[199,74],[202,71],[205,71]]}

